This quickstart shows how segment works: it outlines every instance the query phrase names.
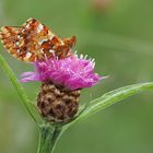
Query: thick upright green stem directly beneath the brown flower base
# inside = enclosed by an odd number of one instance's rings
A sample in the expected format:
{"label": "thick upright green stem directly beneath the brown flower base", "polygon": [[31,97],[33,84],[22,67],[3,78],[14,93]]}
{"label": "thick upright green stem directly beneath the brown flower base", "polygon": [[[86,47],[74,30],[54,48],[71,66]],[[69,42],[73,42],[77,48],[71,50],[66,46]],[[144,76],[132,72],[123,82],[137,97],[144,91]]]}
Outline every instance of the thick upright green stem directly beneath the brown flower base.
{"label": "thick upright green stem directly beneath the brown flower base", "polygon": [[44,126],[39,133],[39,145],[37,153],[52,153],[57,140],[61,136],[61,127]]}

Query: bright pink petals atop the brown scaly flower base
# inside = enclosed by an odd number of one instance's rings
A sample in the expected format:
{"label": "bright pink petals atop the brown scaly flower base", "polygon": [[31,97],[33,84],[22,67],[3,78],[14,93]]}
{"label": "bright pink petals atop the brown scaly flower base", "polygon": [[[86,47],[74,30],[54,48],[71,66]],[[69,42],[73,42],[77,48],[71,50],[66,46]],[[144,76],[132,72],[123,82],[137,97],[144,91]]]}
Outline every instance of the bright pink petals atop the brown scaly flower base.
{"label": "bright pink petals atop the brown scaly flower base", "polygon": [[101,79],[94,73],[94,60],[73,55],[64,59],[50,58],[34,63],[34,72],[24,72],[21,82],[48,81],[59,84],[71,91],[91,87]]}

